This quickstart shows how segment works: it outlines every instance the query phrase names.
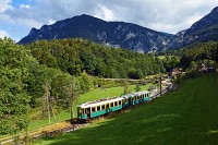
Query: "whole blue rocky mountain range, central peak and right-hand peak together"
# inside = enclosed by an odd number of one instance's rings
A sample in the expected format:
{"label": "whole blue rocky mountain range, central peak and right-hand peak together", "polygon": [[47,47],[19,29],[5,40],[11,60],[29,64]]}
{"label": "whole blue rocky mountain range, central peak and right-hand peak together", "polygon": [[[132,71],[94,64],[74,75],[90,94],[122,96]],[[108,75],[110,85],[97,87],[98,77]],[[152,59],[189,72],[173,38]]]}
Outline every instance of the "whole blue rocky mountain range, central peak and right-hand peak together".
{"label": "whole blue rocky mountain range, central peak and right-hand peak together", "polygon": [[87,14],[57,21],[39,29],[32,28],[19,44],[40,39],[81,37],[109,47],[120,47],[137,52],[180,49],[195,43],[218,40],[218,7],[195,22],[190,28],[173,34],[157,32],[126,22],[107,22]]}

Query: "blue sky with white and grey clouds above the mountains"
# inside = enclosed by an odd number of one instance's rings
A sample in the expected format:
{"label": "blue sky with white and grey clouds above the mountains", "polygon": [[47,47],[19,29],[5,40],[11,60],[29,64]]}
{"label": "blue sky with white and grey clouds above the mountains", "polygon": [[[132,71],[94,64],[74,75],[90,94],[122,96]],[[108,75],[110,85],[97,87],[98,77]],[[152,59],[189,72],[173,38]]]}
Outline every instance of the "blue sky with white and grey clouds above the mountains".
{"label": "blue sky with white and grey clouds above the mountains", "polygon": [[81,14],[175,34],[217,5],[218,0],[0,0],[0,38],[19,41],[33,27]]}

